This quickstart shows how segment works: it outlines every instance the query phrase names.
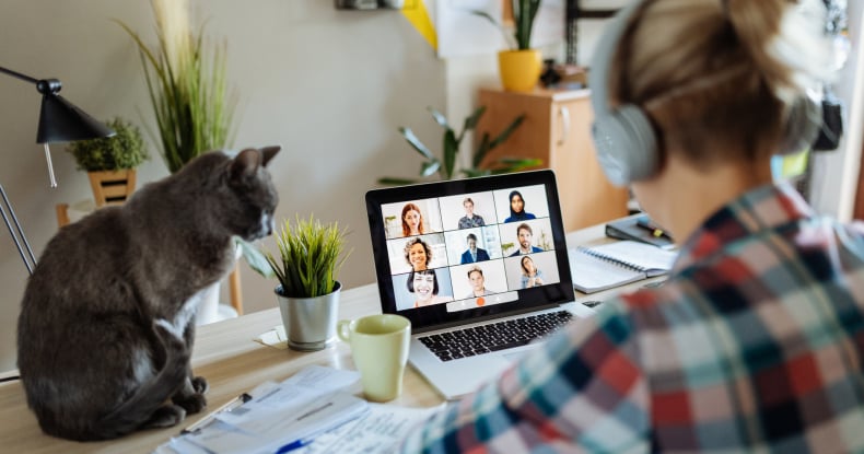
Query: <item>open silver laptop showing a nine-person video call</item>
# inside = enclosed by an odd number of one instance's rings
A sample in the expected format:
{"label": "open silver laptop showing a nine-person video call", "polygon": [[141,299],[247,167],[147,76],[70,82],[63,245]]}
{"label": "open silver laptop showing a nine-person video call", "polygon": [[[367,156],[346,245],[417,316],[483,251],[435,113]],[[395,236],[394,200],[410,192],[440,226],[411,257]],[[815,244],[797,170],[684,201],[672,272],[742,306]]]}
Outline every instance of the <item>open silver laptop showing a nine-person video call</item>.
{"label": "open silver laptop showing a nine-person video call", "polygon": [[409,363],[446,399],[573,316],[552,171],[380,188],[365,201],[382,312],[411,321]]}

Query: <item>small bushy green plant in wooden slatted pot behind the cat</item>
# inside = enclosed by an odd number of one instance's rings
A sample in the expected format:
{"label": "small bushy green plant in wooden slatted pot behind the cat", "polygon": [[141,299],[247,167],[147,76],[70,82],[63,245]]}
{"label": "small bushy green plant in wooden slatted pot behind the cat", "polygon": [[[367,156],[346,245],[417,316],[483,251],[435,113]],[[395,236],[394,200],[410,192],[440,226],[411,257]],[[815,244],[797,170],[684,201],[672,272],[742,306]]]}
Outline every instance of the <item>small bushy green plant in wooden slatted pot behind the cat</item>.
{"label": "small bushy green plant in wooden slatted pot behind the cat", "polygon": [[135,190],[136,167],[150,159],[137,126],[120,117],[106,124],[117,133],[79,140],[66,149],[74,156],[78,168],[90,176],[96,207],[126,201]]}

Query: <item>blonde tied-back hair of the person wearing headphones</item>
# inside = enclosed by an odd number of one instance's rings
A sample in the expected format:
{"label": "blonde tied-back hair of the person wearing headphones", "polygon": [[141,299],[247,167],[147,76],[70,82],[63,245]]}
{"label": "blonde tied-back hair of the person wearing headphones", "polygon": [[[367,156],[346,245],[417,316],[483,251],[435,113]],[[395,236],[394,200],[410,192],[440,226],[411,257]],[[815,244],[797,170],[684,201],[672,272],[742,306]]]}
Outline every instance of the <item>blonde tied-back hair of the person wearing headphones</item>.
{"label": "blonde tied-back hair of the person wearing headphones", "polygon": [[617,47],[609,101],[642,106],[659,149],[699,167],[764,158],[793,103],[828,75],[824,21],[803,10],[789,0],[646,0]]}

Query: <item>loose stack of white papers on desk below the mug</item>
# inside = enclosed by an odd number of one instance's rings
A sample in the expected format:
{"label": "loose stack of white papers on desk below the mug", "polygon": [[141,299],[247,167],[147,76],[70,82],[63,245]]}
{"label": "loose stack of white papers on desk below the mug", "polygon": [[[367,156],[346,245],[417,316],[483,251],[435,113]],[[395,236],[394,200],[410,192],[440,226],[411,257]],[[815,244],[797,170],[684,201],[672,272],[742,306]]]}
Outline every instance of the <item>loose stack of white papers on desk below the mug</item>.
{"label": "loose stack of white papers on desk below the mug", "polygon": [[307,366],[282,383],[261,384],[248,393],[248,401],[212,415],[155,452],[384,453],[434,411],[370,405],[347,391],[358,380],[355,371]]}

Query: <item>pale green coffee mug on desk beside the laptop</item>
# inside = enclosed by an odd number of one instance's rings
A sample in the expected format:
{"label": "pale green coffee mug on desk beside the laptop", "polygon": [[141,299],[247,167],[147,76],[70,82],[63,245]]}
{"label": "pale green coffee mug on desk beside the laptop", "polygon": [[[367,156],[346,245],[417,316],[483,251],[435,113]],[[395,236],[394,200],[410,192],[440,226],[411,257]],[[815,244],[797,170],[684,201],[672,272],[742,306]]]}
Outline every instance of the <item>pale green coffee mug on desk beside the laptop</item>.
{"label": "pale green coffee mug on desk beside the laptop", "polygon": [[367,315],[339,321],[336,334],[351,346],[366,398],[387,401],[399,397],[408,362],[411,322],[395,314]]}

